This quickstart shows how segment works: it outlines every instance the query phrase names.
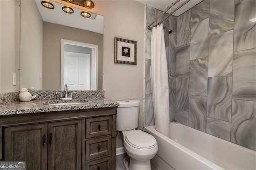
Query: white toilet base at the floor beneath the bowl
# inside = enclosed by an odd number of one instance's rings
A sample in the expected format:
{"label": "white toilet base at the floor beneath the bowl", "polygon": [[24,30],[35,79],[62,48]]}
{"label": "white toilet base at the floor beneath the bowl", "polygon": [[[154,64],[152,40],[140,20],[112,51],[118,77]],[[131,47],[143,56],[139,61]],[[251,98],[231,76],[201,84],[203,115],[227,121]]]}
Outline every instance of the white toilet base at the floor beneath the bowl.
{"label": "white toilet base at the floor beneath the bowl", "polygon": [[123,162],[126,170],[151,170],[150,160],[140,161],[130,157],[130,163],[128,166],[129,157],[126,156],[124,157]]}

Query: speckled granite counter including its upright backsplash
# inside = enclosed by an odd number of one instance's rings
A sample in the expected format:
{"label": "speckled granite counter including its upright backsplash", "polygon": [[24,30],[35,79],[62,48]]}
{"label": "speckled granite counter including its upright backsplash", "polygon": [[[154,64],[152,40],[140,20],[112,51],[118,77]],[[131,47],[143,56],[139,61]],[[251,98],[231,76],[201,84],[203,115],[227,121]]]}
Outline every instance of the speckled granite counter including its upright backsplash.
{"label": "speckled granite counter including its upright backsplash", "polygon": [[[1,99],[4,99],[4,102],[1,102],[2,105],[0,110],[0,116],[117,107],[119,105],[119,103],[116,103],[110,99],[105,98],[104,91],[75,91],[77,93],[74,97],[75,99],[73,100],[59,100],[59,97],[56,96],[56,92],[59,91],[30,91],[32,95],[37,95],[37,97],[36,100],[32,100],[29,102],[21,102],[18,99],[8,99],[8,94],[2,93]],[[63,91],[60,92],[63,93]],[[74,91],[69,91],[69,93],[72,92]],[[13,92],[10,94],[13,94]],[[11,96],[16,97],[17,95],[15,93],[15,95]],[[79,102],[82,104],[49,105],[53,103],[64,102]]]}

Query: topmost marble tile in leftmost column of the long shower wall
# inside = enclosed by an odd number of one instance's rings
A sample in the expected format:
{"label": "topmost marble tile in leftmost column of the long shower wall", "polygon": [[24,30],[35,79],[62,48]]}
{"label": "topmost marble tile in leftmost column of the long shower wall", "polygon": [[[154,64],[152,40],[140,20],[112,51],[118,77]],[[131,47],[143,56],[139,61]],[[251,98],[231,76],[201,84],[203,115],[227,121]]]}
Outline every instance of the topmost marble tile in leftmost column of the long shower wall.
{"label": "topmost marble tile in leftmost column of the long shower wall", "polygon": [[190,13],[188,10],[177,18],[177,47],[190,43]]}

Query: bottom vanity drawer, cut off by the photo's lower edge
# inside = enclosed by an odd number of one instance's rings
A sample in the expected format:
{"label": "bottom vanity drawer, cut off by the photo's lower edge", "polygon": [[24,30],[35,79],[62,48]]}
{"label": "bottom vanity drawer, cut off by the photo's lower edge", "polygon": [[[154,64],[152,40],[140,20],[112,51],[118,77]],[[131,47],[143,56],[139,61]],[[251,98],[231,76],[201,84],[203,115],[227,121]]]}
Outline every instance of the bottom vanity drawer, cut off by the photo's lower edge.
{"label": "bottom vanity drawer, cut off by the photo's lower edge", "polygon": [[86,170],[111,170],[111,157],[95,160],[85,164]]}

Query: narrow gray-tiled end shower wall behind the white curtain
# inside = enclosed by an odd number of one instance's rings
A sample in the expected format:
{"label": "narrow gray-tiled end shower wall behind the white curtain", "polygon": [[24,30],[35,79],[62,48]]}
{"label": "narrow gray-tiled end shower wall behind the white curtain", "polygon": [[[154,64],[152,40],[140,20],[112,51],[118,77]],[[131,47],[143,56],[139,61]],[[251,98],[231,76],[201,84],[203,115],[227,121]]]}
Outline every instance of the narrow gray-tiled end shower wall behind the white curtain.
{"label": "narrow gray-tiled end shower wall behind the white curtain", "polygon": [[[162,11],[146,7],[146,26],[151,24]],[[167,14],[162,16],[157,22],[160,22]],[[154,23],[156,24],[156,23]],[[164,40],[166,46],[166,57],[168,62],[168,79],[169,79],[169,98],[170,98],[170,122],[174,121],[175,112],[175,72],[176,72],[176,35],[177,35],[177,17],[170,16],[163,23],[164,27]],[[170,28],[173,32],[168,34]],[[145,64],[145,108],[144,108],[144,127],[154,125],[154,111],[152,105],[151,81],[150,81],[150,65],[151,65],[151,31],[146,30],[146,64]]]}

